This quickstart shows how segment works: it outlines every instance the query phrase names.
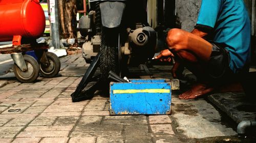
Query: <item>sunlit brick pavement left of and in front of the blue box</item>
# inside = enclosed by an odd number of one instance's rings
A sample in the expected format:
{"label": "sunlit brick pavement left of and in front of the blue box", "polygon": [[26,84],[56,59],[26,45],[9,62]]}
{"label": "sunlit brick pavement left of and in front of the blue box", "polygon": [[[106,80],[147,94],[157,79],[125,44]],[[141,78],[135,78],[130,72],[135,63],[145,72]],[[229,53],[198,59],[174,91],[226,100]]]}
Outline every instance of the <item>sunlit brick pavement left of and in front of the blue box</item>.
{"label": "sunlit brick pavement left of and in front of the blue box", "polygon": [[61,63],[62,76],[1,85],[0,142],[179,141],[170,116],[109,116],[109,98],[100,93],[72,103],[70,95],[88,65],[80,55]]}

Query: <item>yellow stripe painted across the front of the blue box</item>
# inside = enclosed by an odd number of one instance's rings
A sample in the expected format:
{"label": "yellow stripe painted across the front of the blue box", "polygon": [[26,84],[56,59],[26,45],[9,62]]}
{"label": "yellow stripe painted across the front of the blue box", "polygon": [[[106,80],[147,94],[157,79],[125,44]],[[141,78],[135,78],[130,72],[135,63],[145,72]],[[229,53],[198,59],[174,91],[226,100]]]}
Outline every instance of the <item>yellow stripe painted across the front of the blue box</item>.
{"label": "yellow stripe painted across the front of the blue box", "polygon": [[129,93],[170,93],[165,89],[145,89],[145,90],[113,90],[113,94],[129,94]]}

